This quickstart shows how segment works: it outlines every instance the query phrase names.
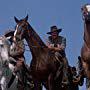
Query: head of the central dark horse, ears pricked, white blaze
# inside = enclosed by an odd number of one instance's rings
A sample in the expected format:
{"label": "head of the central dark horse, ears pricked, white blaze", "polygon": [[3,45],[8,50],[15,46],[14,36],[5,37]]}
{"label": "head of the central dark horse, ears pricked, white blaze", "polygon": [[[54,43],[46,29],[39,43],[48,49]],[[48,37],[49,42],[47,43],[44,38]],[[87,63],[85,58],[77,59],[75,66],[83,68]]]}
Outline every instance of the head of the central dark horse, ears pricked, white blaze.
{"label": "head of the central dark horse, ears pricked, white blaze", "polygon": [[14,36],[22,40],[25,36],[25,31],[28,30],[29,28],[29,23],[27,22],[28,15],[21,20],[18,20],[16,17],[14,17],[14,19],[15,19],[15,22],[17,23]]}

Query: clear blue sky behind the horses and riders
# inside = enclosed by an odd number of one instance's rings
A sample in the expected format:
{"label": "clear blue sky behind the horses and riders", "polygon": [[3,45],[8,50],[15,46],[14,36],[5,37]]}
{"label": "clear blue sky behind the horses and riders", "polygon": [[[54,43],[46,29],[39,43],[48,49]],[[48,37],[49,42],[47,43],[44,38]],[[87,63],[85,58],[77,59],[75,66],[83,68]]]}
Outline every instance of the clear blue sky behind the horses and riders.
{"label": "clear blue sky behind the horses and riders", "polygon": [[[77,57],[83,44],[83,20],[81,7],[90,0],[0,0],[0,35],[14,29],[18,19],[29,15],[28,21],[41,39],[46,42],[50,27],[62,28],[60,35],[66,37],[66,55],[71,66],[77,65]],[[25,52],[26,62],[32,58]],[[80,90],[86,90],[85,85]]]}

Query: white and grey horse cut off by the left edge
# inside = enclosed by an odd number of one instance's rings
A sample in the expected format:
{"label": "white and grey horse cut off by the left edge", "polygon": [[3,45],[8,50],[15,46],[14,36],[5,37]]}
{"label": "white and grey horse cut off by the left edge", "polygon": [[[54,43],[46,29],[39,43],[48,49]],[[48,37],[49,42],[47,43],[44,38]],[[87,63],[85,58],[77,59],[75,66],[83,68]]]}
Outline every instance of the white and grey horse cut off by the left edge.
{"label": "white and grey horse cut off by the left edge", "polygon": [[10,77],[8,38],[0,36],[0,90],[7,90]]}

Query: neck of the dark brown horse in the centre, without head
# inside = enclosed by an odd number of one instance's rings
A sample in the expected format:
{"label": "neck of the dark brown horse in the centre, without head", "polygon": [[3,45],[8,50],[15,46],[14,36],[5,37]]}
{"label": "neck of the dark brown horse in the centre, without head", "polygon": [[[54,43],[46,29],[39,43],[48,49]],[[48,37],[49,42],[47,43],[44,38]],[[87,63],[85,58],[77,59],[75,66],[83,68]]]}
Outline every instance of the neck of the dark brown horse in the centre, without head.
{"label": "neck of the dark brown horse in the centre, without head", "polygon": [[25,35],[25,39],[32,53],[35,53],[38,49],[40,50],[41,48],[43,49],[46,47],[44,42],[41,40],[39,35],[33,30],[31,26]]}

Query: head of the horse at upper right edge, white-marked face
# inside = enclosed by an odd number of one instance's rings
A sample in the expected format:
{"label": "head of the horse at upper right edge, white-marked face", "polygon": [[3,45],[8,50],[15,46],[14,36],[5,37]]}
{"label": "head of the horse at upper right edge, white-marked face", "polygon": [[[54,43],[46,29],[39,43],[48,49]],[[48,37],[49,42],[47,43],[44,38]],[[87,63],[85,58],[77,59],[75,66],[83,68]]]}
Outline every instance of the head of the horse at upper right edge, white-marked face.
{"label": "head of the horse at upper right edge, white-marked face", "polygon": [[83,19],[90,21],[90,4],[84,5],[82,8]]}

